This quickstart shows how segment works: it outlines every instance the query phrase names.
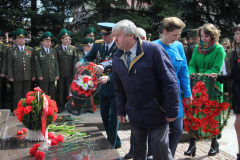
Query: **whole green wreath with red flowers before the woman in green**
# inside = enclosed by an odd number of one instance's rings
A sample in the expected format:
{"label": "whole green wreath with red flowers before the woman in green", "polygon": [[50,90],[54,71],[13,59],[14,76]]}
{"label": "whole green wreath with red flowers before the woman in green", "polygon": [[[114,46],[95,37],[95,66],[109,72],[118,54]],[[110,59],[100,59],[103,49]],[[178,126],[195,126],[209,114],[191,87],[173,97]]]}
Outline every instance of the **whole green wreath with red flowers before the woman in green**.
{"label": "whole green wreath with red flowers before the woman in green", "polygon": [[207,74],[190,76],[193,101],[183,99],[184,130],[203,140],[216,137],[226,126],[230,112],[230,96],[223,93]]}

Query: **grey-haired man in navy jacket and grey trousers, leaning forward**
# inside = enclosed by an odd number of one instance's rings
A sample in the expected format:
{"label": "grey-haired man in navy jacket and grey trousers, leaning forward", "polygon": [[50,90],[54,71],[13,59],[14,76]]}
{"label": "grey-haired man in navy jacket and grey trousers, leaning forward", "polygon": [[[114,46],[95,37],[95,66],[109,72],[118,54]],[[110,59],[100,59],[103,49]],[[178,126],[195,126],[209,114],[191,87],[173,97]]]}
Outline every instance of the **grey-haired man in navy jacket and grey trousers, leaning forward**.
{"label": "grey-haired man in navy jacket and grey trousers, leaning forward", "polygon": [[117,52],[112,71],[117,117],[134,136],[133,159],[146,159],[148,130],[152,134],[153,159],[173,160],[169,149],[169,124],[178,115],[178,82],[168,54],[161,45],[142,41],[129,20],[113,27]]}

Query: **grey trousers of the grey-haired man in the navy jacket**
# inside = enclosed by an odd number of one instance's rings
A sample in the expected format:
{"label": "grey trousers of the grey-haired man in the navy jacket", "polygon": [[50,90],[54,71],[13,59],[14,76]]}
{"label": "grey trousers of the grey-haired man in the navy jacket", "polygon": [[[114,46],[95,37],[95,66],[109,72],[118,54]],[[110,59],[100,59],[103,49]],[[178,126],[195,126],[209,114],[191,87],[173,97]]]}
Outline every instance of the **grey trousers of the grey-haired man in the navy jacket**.
{"label": "grey trousers of the grey-haired man in the navy jacket", "polygon": [[[146,160],[148,128],[131,127],[134,136],[133,160]],[[150,128],[152,133],[152,151],[154,160],[173,160],[169,149],[168,123],[157,128]]]}

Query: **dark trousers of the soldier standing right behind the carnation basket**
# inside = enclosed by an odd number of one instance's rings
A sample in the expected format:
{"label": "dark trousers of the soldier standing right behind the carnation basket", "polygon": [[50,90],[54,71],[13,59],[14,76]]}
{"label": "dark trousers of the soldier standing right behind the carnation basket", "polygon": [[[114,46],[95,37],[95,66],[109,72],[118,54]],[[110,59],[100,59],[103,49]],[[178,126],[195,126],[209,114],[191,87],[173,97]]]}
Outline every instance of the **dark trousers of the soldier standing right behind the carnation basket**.
{"label": "dark trousers of the soldier standing right behind the carnation basket", "polygon": [[55,81],[44,82],[39,80],[39,87],[46,95],[50,95],[52,100],[55,100]]}

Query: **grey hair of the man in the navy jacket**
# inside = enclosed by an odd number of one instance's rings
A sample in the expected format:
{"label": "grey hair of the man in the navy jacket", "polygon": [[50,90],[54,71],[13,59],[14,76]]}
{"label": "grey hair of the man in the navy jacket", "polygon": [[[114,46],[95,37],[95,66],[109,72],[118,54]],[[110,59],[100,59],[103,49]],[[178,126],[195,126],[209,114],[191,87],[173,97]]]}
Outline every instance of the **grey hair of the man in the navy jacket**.
{"label": "grey hair of the man in the navy jacket", "polygon": [[134,35],[134,38],[138,38],[138,30],[136,25],[130,20],[121,20],[112,28],[112,32],[117,30],[121,30],[124,32],[125,36],[129,36],[131,34]]}

